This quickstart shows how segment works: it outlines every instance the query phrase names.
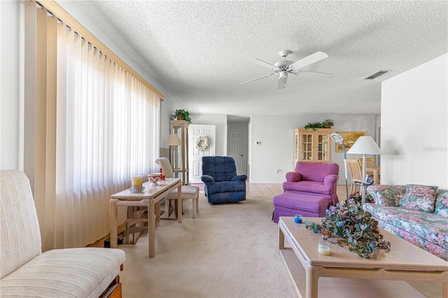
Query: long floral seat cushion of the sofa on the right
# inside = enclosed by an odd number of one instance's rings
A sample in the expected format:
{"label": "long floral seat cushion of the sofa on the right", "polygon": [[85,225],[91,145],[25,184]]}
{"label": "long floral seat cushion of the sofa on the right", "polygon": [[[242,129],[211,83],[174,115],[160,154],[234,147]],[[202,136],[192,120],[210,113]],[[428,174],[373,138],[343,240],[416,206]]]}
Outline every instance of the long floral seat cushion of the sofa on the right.
{"label": "long floral seat cushion of the sofa on the right", "polygon": [[[414,234],[433,245],[448,249],[448,220],[444,216],[414,209],[365,204],[374,218]],[[393,249],[393,248],[392,248]]]}

